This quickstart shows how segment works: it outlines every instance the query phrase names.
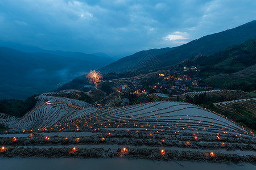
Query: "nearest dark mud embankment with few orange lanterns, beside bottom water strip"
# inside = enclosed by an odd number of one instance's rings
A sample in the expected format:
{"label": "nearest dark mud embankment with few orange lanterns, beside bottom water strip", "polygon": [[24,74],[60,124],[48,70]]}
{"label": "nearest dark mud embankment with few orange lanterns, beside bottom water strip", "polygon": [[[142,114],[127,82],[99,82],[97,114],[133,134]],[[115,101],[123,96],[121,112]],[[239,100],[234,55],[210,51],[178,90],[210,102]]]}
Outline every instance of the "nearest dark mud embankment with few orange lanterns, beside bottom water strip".
{"label": "nearest dark mud embankment with few orange lanterns, beside bottom water strip", "polygon": [[118,148],[117,150],[104,148],[6,148],[0,152],[0,157],[34,157],[34,158],[137,158],[154,160],[189,160],[195,162],[214,162],[214,163],[256,163],[255,155],[238,156],[236,154],[221,154],[198,151],[173,151],[149,148],[126,148],[126,151]]}

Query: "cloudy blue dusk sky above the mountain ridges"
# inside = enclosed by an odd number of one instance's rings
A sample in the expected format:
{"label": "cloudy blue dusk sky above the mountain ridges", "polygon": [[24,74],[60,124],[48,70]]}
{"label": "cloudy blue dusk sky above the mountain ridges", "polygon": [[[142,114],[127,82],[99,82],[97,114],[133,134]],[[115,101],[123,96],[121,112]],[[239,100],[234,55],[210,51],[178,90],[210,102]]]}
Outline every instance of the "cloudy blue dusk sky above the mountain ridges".
{"label": "cloudy blue dusk sky above the mountain ridges", "polygon": [[256,19],[255,0],[1,0],[0,40],[124,57]]}

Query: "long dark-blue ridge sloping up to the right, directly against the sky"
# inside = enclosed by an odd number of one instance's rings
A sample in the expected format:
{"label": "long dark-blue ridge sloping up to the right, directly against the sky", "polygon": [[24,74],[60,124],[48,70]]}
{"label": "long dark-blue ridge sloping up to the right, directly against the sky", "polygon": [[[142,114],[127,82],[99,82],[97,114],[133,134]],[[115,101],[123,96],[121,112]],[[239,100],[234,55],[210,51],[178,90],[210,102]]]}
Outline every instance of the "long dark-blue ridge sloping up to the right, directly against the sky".
{"label": "long dark-blue ridge sloping up to the right, directly against the sky", "polygon": [[110,63],[109,65],[100,69],[102,73],[110,72],[127,72],[130,71],[134,66],[142,67],[140,62],[147,52],[154,54],[158,65],[154,69],[163,69],[175,65],[184,59],[189,59],[192,56],[197,55],[209,55],[214,52],[224,50],[228,46],[241,44],[242,42],[253,39],[256,37],[256,20],[243,24],[239,27],[228,29],[223,32],[214,33],[201,37],[198,40],[193,40],[187,44],[177,46],[176,48],[164,48],[142,51],[135,53],[131,56],[123,57],[118,61]]}

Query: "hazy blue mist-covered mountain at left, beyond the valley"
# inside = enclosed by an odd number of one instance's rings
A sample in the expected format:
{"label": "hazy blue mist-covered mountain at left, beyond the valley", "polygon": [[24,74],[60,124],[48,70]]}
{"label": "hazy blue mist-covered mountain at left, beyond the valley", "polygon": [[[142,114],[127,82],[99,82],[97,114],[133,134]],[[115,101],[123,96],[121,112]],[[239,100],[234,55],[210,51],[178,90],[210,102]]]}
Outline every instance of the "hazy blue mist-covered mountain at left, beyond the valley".
{"label": "hazy blue mist-covered mountain at left, beyond the valley", "polygon": [[100,68],[113,59],[93,54],[48,51],[24,53],[0,47],[0,100],[26,99]]}

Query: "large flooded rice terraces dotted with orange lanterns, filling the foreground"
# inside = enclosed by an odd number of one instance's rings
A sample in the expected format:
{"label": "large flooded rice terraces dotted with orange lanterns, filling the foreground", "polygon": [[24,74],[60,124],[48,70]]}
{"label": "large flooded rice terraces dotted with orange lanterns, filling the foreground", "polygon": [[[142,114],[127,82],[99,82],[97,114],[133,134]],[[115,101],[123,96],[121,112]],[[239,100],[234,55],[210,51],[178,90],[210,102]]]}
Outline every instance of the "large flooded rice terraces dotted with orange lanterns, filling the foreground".
{"label": "large flooded rice terraces dotted with orange lanterns, filling the foreground", "polygon": [[255,163],[253,132],[197,105],[94,108],[65,97],[38,100],[24,117],[1,120],[9,130],[0,135],[0,156]]}

